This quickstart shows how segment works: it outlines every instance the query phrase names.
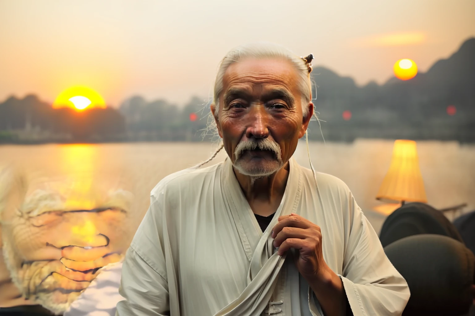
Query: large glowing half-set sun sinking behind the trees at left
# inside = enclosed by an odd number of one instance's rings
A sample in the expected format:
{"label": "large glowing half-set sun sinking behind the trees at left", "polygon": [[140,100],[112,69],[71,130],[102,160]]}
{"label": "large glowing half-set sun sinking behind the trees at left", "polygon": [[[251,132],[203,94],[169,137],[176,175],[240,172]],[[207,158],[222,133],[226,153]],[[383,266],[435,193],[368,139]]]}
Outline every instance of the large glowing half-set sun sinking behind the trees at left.
{"label": "large glowing half-set sun sinking behind the trees at left", "polygon": [[106,108],[104,99],[95,90],[85,86],[74,86],[61,92],[53,103],[53,108]]}

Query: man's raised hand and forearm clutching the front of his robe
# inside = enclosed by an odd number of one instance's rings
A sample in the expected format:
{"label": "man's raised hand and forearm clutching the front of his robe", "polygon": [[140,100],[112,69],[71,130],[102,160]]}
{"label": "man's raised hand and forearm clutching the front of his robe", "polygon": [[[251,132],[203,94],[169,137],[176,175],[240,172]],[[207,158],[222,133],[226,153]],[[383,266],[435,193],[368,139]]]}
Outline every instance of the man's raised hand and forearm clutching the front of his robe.
{"label": "man's raised hand and forearm clutching the front of his robe", "polygon": [[320,227],[295,213],[279,217],[272,231],[277,253],[283,255],[290,248],[299,251],[295,265],[318,298],[326,315],[344,315],[346,294],[342,280],[323,259]]}

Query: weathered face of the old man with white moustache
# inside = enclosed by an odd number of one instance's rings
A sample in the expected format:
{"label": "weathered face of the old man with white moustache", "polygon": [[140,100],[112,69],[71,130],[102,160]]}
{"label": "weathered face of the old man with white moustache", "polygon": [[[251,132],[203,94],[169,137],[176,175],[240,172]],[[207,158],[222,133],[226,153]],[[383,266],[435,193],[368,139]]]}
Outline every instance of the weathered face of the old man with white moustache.
{"label": "weathered face of the old man with white moustache", "polygon": [[240,173],[270,175],[295,152],[313,113],[313,104],[306,103],[310,111],[303,118],[297,81],[293,65],[280,59],[247,59],[228,67],[217,125]]}

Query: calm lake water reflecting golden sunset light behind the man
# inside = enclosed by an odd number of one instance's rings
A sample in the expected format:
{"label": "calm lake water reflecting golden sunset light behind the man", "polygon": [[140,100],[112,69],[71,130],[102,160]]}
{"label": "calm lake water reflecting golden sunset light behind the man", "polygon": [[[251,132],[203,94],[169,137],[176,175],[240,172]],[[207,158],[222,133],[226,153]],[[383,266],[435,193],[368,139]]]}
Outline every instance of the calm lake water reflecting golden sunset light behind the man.
{"label": "calm lake water reflecting golden sunset light behind the man", "polygon": [[[373,208],[381,204],[375,196],[389,168],[392,145],[389,140],[368,139],[352,144],[310,143],[315,169],[342,179],[378,232],[385,216]],[[76,183],[70,191],[80,191],[84,196],[109,187],[129,190],[134,194],[132,210],[136,214],[131,225],[136,226],[148,208],[149,192],[155,184],[172,172],[205,160],[213,148],[209,143],[2,145],[0,166],[16,166],[30,183],[68,179],[68,183]],[[445,208],[467,203],[466,211],[475,208],[474,144],[421,141],[418,154],[430,205]],[[304,142],[294,157],[309,166]],[[224,158],[225,153],[220,153],[209,164]],[[81,199],[81,194],[76,198]]]}

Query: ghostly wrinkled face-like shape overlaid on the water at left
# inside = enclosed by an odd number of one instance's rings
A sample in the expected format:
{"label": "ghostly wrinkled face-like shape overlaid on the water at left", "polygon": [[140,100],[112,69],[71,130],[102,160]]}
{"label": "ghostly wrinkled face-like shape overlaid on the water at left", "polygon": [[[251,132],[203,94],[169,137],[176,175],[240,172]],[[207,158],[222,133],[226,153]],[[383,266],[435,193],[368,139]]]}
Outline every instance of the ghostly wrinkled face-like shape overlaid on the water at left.
{"label": "ghostly wrinkled face-like shape overlaid on the water at left", "polygon": [[130,192],[75,180],[40,181],[27,190],[0,174],[0,189],[8,188],[0,192],[0,252],[10,277],[24,298],[57,314],[100,268],[122,259],[133,233]]}

